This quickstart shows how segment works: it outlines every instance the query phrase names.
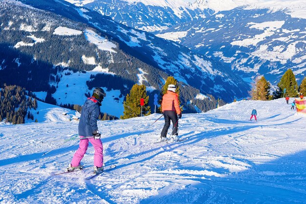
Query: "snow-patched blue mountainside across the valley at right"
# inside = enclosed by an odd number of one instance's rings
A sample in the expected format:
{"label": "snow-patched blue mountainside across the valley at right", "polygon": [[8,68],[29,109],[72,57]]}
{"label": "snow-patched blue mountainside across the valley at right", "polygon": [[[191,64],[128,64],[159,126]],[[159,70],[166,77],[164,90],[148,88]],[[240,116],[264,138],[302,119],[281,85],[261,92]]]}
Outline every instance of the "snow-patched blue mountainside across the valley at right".
{"label": "snow-patched blue mountainside across the valley at right", "polygon": [[277,84],[291,68],[301,82],[306,74],[306,19],[287,13],[239,7],[176,25],[158,36],[220,60],[243,78],[264,74]]}

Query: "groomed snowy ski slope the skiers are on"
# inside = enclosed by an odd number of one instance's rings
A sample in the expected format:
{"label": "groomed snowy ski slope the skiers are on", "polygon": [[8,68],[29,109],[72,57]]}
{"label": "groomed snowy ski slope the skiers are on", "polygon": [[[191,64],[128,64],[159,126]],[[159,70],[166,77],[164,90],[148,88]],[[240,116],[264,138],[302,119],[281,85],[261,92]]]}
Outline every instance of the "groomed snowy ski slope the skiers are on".
{"label": "groomed snowy ski slope the skiers are on", "polygon": [[[290,99],[291,101],[292,99]],[[253,108],[258,121],[249,121]],[[0,123],[0,203],[23,204],[302,204],[306,200],[306,117],[284,99],[240,101],[199,114],[183,114],[179,135],[157,143],[158,114],[99,121],[106,166],[85,181],[87,170],[66,168],[78,141],[42,154],[77,134],[77,123]]]}

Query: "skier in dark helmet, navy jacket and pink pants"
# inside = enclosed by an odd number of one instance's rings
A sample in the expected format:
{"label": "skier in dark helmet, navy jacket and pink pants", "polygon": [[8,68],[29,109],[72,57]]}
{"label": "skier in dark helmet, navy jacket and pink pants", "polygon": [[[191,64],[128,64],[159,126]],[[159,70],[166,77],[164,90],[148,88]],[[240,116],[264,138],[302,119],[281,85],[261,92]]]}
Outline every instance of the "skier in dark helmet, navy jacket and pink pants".
{"label": "skier in dark helmet, navy jacket and pink pants", "polygon": [[100,140],[101,134],[98,132],[97,120],[100,114],[101,102],[105,96],[106,93],[103,89],[95,88],[92,96],[85,101],[80,117],[79,136],[93,136],[93,138],[80,140],[79,149],[75,152],[67,171],[83,168],[80,162],[87,151],[88,141],[94,148],[94,173],[103,171],[103,145]]}

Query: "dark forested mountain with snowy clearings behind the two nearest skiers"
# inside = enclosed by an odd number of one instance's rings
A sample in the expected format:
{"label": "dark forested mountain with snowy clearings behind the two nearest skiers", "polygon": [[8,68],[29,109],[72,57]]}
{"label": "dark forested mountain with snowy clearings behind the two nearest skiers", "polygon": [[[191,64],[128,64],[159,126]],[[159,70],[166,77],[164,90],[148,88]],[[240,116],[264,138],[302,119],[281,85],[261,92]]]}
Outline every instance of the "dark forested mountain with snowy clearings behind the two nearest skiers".
{"label": "dark forested mountain with snowy clearings behind the two nearest skiers", "polygon": [[133,84],[154,95],[169,75],[196,88],[186,92],[187,112],[197,112],[192,100],[200,92],[226,101],[247,95],[248,86],[220,63],[66,1],[3,0],[0,15],[1,84],[52,96],[53,103],[82,105],[100,86],[122,106]]}

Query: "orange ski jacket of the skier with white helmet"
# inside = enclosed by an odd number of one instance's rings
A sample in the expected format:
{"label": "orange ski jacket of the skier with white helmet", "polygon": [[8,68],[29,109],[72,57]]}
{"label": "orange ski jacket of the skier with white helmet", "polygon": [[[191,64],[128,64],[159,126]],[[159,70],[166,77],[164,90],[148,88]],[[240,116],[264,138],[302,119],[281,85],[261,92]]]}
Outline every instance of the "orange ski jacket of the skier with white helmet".
{"label": "orange ski jacket of the skier with white helmet", "polygon": [[163,96],[161,102],[162,111],[175,111],[176,114],[180,114],[181,110],[178,104],[178,95],[175,92],[167,91],[167,93]]}

